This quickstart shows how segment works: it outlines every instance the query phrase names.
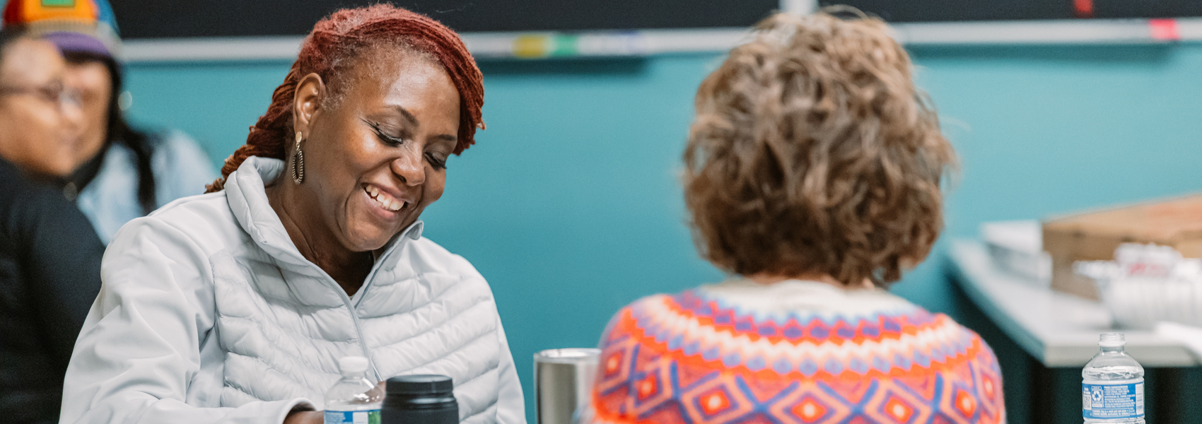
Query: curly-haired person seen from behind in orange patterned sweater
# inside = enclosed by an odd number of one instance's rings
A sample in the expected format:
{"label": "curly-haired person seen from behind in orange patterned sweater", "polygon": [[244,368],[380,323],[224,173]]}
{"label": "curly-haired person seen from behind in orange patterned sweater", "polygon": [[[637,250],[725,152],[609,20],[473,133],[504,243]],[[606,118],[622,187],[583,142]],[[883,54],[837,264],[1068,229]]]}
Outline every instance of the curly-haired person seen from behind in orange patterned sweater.
{"label": "curly-haired person seen from behind in orange patterned sweater", "polygon": [[706,78],[685,201],[734,277],[614,316],[593,422],[1005,422],[989,346],[885,291],[956,160],[911,70],[879,19],[776,14]]}

